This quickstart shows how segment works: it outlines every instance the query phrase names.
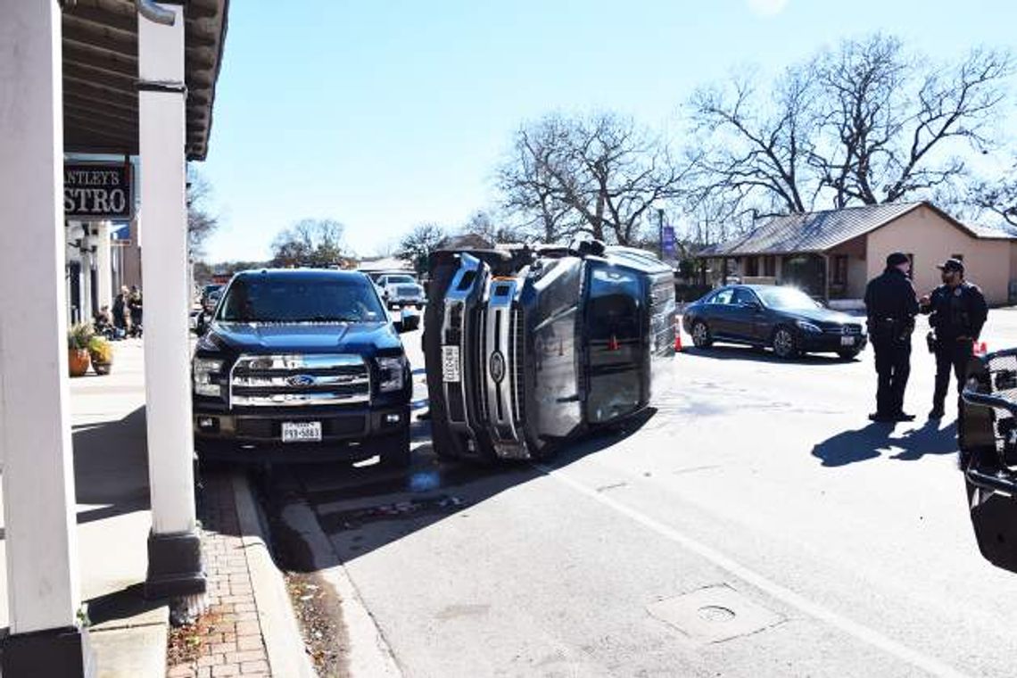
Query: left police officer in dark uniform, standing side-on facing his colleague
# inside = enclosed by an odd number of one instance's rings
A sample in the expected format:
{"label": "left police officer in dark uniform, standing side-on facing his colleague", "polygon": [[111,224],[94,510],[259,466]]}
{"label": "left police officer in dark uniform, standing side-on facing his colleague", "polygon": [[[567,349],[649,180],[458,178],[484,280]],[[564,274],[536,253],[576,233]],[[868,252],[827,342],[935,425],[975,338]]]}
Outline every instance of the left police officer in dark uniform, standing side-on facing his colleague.
{"label": "left police officer in dark uniform, standing side-on facing his colleague", "polygon": [[918,298],[908,273],[911,261],[903,252],[887,257],[887,267],[865,288],[869,337],[876,351],[876,412],[874,422],[909,422],[904,414],[904,388],[911,372],[911,332],[918,313]]}

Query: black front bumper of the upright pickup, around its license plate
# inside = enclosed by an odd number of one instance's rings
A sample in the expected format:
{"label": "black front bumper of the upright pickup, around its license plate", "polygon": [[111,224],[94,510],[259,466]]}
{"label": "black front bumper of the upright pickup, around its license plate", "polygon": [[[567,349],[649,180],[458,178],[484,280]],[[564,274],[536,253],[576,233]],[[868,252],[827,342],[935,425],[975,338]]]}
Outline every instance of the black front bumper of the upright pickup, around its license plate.
{"label": "black front bumper of the upright pickup, around its license plate", "polygon": [[[204,458],[238,461],[358,460],[409,434],[410,407],[247,408],[194,404],[194,447]],[[299,412],[297,411],[299,410]],[[321,440],[283,442],[283,422],[320,422]]]}

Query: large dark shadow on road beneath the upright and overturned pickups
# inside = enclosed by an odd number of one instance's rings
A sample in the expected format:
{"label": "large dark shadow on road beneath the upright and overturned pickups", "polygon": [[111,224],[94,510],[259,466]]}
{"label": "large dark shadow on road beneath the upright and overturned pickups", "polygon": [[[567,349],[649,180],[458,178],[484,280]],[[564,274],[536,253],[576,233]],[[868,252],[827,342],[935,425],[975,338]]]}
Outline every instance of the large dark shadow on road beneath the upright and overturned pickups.
{"label": "large dark shadow on road beneath the upright and overturned pickups", "polygon": [[[560,469],[596,454],[639,431],[655,413],[648,410],[578,439],[542,465]],[[413,457],[404,471],[378,465],[274,467],[271,476],[261,477],[256,486],[272,523],[279,564],[291,571],[310,572],[348,562],[441,520],[469,518],[471,507],[545,476],[529,461],[480,466],[441,459],[429,443],[418,446]],[[287,523],[287,511],[304,503],[330,536],[330,554],[310,553]]]}

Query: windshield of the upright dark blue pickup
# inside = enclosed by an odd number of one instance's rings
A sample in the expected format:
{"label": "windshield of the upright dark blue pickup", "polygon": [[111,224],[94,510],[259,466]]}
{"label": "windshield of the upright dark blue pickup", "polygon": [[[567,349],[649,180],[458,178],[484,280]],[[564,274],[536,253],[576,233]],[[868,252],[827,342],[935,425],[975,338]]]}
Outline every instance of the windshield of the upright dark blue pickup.
{"label": "windshield of the upright dark blue pickup", "polygon": [[225,322],[380,322],[366,280],[251,278],[234,281],[220,305]]}

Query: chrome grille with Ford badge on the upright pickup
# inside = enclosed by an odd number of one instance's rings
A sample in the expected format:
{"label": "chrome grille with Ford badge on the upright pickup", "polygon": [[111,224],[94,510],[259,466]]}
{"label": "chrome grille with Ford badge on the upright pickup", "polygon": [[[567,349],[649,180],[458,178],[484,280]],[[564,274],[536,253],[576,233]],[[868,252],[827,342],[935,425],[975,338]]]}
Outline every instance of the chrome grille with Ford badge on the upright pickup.
{"label": "chrome grille with Ford badge on the upright pickup", "polygon": [[369,403],[370,370],[356,355],[240,356],[230,371],[230,407]]}

